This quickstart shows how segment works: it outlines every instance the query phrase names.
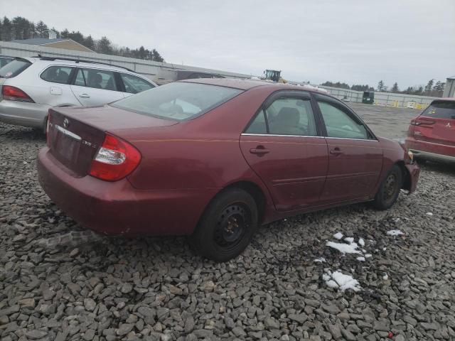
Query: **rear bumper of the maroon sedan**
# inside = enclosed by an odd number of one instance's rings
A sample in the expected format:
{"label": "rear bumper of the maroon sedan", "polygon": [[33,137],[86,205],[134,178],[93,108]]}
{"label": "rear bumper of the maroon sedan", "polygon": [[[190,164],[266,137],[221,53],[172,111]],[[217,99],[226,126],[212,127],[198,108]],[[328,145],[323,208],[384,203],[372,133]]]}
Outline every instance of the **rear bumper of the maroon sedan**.
{"label": "rear bumper of the maroon sedan", "polygon": [[41,187],[83,226],[102,234],[191,234],[218,188],[138,190],[127,179],[77,178],[44,147],[38,153]]}

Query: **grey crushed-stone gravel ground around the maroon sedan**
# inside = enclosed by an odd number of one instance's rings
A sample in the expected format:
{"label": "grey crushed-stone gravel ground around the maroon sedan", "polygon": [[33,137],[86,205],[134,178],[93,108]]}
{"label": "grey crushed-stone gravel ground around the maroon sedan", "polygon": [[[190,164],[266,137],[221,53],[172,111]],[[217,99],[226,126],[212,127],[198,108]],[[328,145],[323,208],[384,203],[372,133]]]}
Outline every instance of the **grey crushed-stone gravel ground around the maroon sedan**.
{"label": "grey crushed-stone gravel ground around the maroon sedan", "polygon": [[[374,125],[387,115],[363,116]],[[391,137],[407,129],[396,125]],[[3,341],[455,340],[453,166],[423,165],[417,193],[387,212],[351,205],[275,222],[215,264],[184,238],[112,239],[78,226],[38,185],[44,144],[0,124]],[[336,232],[359,253],[326,246],[344,243]],[[336,271],[358,291],[329,286]]]}

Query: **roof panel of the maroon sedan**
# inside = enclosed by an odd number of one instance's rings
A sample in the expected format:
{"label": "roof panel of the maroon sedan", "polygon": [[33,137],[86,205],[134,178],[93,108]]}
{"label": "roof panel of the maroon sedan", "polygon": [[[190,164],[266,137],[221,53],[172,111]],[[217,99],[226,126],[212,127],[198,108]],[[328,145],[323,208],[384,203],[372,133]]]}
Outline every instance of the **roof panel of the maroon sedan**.
{"label": "roof panel of the maroon sedan", "polygon": [[321,94],[330,94],[319,91],[316,87],[309,87],[306,85],[291,85],[291,84],[282,84],[271,82],[267,80],[250,80],[250,79],[240,79],[240,78],[198,78],[194,80],[179,80],[178,82],[188,82],[188,83],[199,83],[207,85],[218,85],[220,87],[233,87],[239,90],[249,90],[253,87],[268,87],[272,90],[301,90],[309,92],[318,92]]}

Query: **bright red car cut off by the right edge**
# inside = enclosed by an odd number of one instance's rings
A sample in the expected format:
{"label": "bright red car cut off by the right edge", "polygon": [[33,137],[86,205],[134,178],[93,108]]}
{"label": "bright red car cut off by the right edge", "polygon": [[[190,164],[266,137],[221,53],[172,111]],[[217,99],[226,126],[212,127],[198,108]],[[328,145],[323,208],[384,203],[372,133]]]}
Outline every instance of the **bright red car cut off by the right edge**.
{"label": "bright red car cut off by the right edge", "polygon": [[405,146],[416,158],[455,162],[455,98],[435,99],[413,119]]}

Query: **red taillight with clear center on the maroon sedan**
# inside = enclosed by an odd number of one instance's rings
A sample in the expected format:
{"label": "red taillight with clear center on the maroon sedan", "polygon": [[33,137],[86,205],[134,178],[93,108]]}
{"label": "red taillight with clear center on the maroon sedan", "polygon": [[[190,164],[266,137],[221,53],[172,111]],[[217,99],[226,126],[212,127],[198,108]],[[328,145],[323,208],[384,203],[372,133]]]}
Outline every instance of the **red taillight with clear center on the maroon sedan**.
{"label": "red taillight with clear center on the maroon sedan", "polygon": [[90,175],[102,180],[117,181],[134,171],[140,161],[141,153],[134,146],[106,134],[105,141],[92,161]]}

